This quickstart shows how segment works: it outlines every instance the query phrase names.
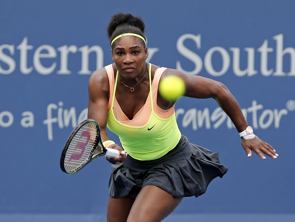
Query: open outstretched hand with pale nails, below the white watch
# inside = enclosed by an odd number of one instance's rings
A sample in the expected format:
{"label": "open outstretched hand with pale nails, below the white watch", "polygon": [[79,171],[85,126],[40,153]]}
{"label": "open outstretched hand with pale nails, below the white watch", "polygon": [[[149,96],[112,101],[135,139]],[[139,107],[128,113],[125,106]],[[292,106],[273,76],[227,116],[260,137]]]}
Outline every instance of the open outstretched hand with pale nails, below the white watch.
{"label": "open outstretched hand with pale nails, below the white watch", "polygon": [[246,151],[248,157],[252,156],[251,151],[255,152],[262,159],[266,159],[264,154],[270,156],[273,159],[276,159],[278,157],[276,150],[273,149],[273,147],[268,143],[259,139],[256,135],[253,139],[250,140],[245,140],[244,138],[242,138],[242,146]]}

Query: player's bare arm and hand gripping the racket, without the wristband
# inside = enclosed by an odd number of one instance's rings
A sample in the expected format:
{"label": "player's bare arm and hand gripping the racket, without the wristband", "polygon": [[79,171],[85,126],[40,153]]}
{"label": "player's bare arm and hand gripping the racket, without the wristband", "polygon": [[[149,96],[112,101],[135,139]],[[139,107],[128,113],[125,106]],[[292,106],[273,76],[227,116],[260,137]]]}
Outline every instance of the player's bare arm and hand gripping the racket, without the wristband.
{"label": "player's bare arm and hand gripping the racket, without the wristband", "polygon": [[[109,140],[106,133],[106,123],[108,120],[109,102],[109,78],[106,69],[95,71],[89,78],[88,92],[88,119],[95,120],[100,128],[101,140]],[[110,163],[122,162],[126,159],[126,154],[122,153],[122,148],[117,144],[110,145],[109,148],[119,150],[119,158],[107,158]]]}

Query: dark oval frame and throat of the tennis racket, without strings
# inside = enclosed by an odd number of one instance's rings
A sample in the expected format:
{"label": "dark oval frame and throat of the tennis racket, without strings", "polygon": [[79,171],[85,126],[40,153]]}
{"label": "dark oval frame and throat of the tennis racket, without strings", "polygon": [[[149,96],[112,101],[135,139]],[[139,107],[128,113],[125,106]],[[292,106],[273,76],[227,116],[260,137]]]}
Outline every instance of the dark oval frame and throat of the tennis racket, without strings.
{"label": "dark oval frame and throat of the tennis racket, without strings", "polygon": [[[86,124],[86,123],[89,123],[89,122],[94,122],[94,124],[97,126],[97,130],[96,130],[96,143],[94,145],[94,149],[91,153],[91,155],[89,155],[89,159],[83,163],[78,169],[76,170],[73,170],[73,172],[68,172],[65,170],[65,167],[64,167],[64,160],[65,160],[65,154],[67,153],[67,150],[68,150],[68,147],[71,143],[71,141],[73,140],[74,136],[76,135],[76,133]],[[101,150],[99,152],[99,150]],[[98,151],[99,153],[95,153],[95,151]],[[106,154],[106,148],[104,147],[104,145],[102,145],[102,141],[101,141],[101,137],[100,137],[100,128],[99,128],[99,125],[98,123],[93,120],[93,119],[87,119],[87,120],[84,120],[83,122],[81,122],[72,132],[71,132],[71,135],[68,137],[68,140],[66,141],[65,143],[65,146],[63,147],[63,152],[61,153],[61,156],[60,156],[60,168],[63,172],[67,173],[67,174],[73,174],[73,173],[76,173],[78,172],[79,170],[81,170],[86,164],[90,163],[92,160],[100,157],[100,156],[103,156]]]}

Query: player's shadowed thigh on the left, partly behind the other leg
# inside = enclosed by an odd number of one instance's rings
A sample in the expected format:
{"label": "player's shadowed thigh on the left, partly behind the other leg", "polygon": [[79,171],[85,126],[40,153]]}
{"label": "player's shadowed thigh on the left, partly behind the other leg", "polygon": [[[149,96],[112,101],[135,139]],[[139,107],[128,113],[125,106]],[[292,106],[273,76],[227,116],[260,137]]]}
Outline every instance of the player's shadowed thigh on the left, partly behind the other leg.
{"label": "player's shadowed thigh on the left, partly behind the other leg", "polygon": [[106,221],[126,222],[134,201],[130,196],[117,199],[109,197]]}

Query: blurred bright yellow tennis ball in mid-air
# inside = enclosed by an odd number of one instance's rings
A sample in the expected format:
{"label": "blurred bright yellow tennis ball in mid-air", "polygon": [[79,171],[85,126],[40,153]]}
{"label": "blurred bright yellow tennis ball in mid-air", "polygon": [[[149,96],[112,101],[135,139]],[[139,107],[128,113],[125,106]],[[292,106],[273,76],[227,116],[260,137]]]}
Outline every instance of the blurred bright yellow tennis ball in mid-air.
{"label": "blurred bright yellow tennis ball in mid-air", "polygon": [[185,83],[178,76],[170,75],[160,81],[159,93],[165,100],[176,101],[185,93]]}

